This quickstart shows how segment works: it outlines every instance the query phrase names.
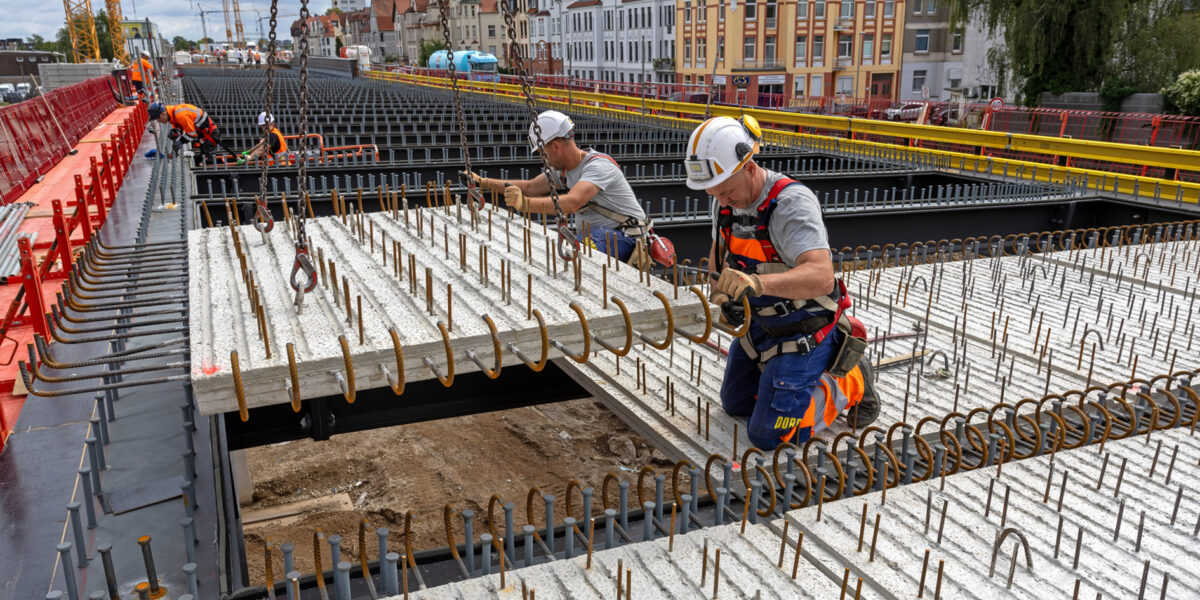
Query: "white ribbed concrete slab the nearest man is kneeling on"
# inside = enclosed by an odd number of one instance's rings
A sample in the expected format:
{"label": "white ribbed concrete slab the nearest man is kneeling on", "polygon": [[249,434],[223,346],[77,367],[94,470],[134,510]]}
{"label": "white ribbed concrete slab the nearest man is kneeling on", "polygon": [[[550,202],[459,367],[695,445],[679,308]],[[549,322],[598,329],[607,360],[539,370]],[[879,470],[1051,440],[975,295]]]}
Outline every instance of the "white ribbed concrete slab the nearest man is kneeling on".
{"label": "white ribbed concrete slab the nearest man is kneeling on", "polygon": [[[1200,252],[1189,254],[1182,244],[1198,242],[1151,242],[1103,252],[1118,260],[1148,254],[1166,270],[1175,257],[1181,268],[1193,254],[1190,260],[1200,263]],[[954,412],[990,410],[997,402],[1014,404],[1134,374],[1148,379],[1195,367],[1198,352],[1189,348],[1200,341],[1188,314],[1196,286],[1189,294],[1162,294],[1157,287],[1130,284],[1115,275],[1093,277],[1069,268],[1072,260],[1076,259],[1061,252],[845,272],[853,314],[878,338],[869,350],[872,362],[886,365],[896,356],[925,353],[907,366],[876,370],[882,410],[875,425],[887,430],[901,421],[941,420]],[[1163,317],[1152,317],[1156,310]],[[1109,314],[1117,313],[1129,324],[1105,329]],[[570,365],[569,372],[574,370],[577,380],[668,456],[692,462],[712,454],[732,456],[734,432],[736,448],[744,450],[751,443],[745,420],[730,416],[720,403],[725,360],[716,348],[728,348],[731,337],[714,332],[709,341],[712,346],[680,340],[670,352],[635,346],[625,358],[601,354],[586,365]],[[832,440],[848,431],[838,420],[818,437]]]}

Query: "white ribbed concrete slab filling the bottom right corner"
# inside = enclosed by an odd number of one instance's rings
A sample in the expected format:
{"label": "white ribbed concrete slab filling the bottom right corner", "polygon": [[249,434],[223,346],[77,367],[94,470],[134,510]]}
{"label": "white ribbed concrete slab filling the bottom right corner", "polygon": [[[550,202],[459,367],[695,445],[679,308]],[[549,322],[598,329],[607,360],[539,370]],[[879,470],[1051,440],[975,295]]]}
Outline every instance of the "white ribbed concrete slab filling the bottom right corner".
{"label": "white ribbed concrete slab filling the bottom right corner", "polygon": [[1198,460],[1176,428],[786,518],[814,559],[864,578],[863,598],[1195,598]]}

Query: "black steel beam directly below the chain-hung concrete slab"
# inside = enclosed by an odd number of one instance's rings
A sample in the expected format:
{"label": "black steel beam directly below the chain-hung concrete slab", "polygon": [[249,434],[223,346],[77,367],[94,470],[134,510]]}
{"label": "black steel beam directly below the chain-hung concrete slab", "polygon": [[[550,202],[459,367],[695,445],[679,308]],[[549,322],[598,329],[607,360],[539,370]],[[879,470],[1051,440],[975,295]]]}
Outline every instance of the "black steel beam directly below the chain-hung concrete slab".
{"label": "black steel beam directly below the chain-hung concrete slab", "polygon": [[299,413],[292,412],[290,404],[276,404],[250,409],[246,422],[236,413],[223,416],[229,450],[241,450],[586,397],[590,395],[551,361],[540,373],[514,366],[505,367],[497,379],[479,372],[458,374],[454,388],[428,379],[409,383],[402,396],[391,388],[379,388],[359,391],[353,404],[329,396],[304,401]]}

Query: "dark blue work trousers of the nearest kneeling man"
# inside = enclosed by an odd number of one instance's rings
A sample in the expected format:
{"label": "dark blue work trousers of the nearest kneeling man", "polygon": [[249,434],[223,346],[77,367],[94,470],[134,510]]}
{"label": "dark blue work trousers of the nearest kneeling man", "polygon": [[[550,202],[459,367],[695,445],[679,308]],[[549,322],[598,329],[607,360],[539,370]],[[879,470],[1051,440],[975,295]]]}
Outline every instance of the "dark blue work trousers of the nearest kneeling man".
{"label": "dark blue work trousers of the nearest kneeling man", "polygon": [[[754,338],[766,334],[751,323]],[[757,334],[757,335],[754,335]],[[812,434],[812,424],[805,422],[812,392],[821,373],[829,368],[841,344],[842,334],[834,330],[808,354],[780,354],[767,361],[762,371],[742,344],[730,343],[730,356],[721,382],[721,406],[734,416],[749,416],[746,436],[761,450],[772,450],[797,427],[787,442],[802,444]],[[820,419],[821,415],[812,415]]]}

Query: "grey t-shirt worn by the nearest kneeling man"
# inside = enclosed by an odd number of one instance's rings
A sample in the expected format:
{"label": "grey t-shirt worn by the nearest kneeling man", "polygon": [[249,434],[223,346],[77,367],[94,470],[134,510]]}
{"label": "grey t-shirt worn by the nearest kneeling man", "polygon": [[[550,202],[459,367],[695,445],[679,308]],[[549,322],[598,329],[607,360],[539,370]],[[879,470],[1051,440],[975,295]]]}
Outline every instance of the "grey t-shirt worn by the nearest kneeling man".
{"label": "grey t-shirt worn by the nearest kneeling man", "polygon": [[[762,168],[762,167],[758,167]],[[733,209],[736,216],[757,215],[758,206],[767,200],[770,187],[784,175],[770,169],[762,169],[767,173],[766,182],[758,200],[748,209]],[[716,239],[716,217],[720,204],[713,200],[713,239]],[[821,203],[804,184],[790,185],[779,193],[779,202],[775,211],[770,215],[770,223],[767,226],[770,232],[770,241],[779,252],[779,258],[787,266],[796,266],[796,258],[810,250],[829,250],[829,234],[826,232],[824,221],[821,218]],[[754,226],[742,226],[733,223],[733,234],[738,238],[752,238]],[[724,248],[722,248],[724,252]],[[718,260],[721,257],[716,257]]]}

